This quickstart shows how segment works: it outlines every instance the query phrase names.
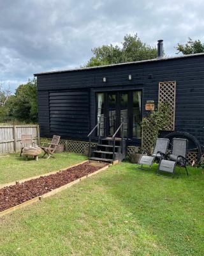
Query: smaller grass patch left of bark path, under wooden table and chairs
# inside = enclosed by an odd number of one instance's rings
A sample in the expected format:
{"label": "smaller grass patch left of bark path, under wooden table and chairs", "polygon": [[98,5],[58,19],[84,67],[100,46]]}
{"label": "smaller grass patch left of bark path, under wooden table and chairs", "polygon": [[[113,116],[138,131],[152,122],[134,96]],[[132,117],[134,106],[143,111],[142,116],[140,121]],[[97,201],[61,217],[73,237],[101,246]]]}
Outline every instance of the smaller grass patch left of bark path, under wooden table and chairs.
{"label": "smaller grass patch left of bark path, under wooden table and chairs", "polygon": [[66,168],[85,159],[85,156],[74,153],[57,153],[55,159],[42,159],[40,156],[38,161],[31,157],[25,161],[25,157],[20,157],[20,154],[0,156],[0,184]]}

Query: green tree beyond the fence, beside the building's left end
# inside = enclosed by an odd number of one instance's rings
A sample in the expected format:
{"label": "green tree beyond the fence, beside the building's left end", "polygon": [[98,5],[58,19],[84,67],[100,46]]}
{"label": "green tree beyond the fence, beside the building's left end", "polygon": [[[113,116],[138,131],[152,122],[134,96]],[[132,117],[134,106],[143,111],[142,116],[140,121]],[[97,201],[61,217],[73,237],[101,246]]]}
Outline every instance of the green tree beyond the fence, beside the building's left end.
{"label": "green tree beyond the fence, beside the building's left end", "polygon": [[9,115],[19,121],[37,122],[37,81],[29,80],[26,84],[18,86],[15,95],[8,100]]}

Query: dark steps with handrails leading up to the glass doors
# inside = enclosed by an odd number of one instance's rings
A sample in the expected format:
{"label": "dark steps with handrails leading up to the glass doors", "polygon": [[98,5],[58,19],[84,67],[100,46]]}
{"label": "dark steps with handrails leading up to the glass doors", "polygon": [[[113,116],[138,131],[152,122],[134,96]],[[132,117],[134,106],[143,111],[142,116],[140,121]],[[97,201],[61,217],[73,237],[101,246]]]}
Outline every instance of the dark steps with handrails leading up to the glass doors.
{"label": "dark steps with handrails leading up to the glass doors", "polygon": [[[91,136],[98,129],[98,144],[91,148]],[[121,133],[121,137],[116,137]],[[126,157],[126,139],[124,139],[124,123],[122,122],[112,137],[101,138],[101,118],[98,124],[92,129],[89,137],[89,159],[94,161],[113,163],[122,161]]]}

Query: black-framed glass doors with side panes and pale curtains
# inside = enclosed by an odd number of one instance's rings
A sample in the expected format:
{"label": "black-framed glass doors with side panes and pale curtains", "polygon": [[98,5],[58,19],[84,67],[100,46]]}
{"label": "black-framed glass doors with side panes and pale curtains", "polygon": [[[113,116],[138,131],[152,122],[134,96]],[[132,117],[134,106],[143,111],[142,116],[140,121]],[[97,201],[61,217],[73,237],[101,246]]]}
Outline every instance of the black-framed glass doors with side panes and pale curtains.
{"label": "black-framed glass doors with side panes and pale curtains", "polygon": [[[124,136],[141,137],[141,91],[97,93],[98,120],[101,116],[101,135],[113,136],[121,122]],[[120,132],[117,136],[120,136]]]}

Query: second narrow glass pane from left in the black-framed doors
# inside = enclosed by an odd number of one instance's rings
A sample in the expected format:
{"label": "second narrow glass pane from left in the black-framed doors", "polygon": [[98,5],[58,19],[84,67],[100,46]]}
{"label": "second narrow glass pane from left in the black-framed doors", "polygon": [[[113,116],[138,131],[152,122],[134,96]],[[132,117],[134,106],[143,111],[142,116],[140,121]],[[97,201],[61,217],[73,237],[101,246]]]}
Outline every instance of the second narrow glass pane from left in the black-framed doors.
{"label": "second narrow glass pane from left in the black-framed doors", "polygon": [[115,93],[109,93],[108,94],[108,134],[113,135],[115,132],[115,110],[116,110],[116,94]]}

